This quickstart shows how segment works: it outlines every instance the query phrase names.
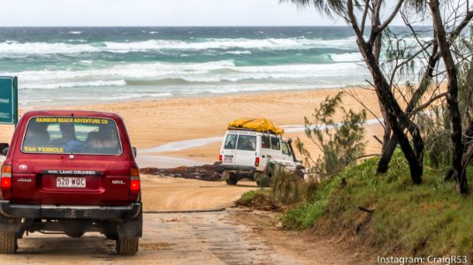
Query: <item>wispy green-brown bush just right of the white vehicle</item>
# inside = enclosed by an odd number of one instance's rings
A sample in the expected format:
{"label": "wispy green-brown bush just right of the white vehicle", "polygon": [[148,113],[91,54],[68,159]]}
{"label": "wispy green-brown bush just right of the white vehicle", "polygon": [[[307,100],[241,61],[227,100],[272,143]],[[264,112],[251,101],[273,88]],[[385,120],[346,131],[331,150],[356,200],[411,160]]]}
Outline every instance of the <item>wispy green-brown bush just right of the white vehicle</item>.
{"label": "wispy green-brown bush just right of the white vehicle", "polygon": [[[312,115],[313,121],[304,117],[306,136],[320,150],[321,155],[314,159],[301,139],[296,140],[296,148],[305,156],[309,172],[319,177],[332,176],[346,167],[363,154],[366,145],[366,142],[362,141],[366,112],[362,110],[360,113],[355,113],[353,110],[345,110],[340,106],[341,95],[340,92],[334,97],[327,96],[315,109]],[[332,118],[336,110],[341,110],[343,113],[339,123],[334,122]]]}

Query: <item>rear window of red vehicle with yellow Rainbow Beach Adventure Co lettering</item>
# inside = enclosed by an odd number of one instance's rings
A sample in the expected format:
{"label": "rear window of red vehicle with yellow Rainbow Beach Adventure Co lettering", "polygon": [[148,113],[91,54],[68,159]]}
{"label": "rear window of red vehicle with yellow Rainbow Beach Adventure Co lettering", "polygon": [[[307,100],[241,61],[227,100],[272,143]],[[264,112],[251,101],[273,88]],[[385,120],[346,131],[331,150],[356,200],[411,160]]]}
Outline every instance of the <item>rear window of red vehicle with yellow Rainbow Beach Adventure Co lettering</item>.
{"label": "rear window of red vehicle with yellow Rainbow Beach Adventure Co lettering", "polygon": [[117,124],[101,117],[31,117],[23,153],[121,155]]}

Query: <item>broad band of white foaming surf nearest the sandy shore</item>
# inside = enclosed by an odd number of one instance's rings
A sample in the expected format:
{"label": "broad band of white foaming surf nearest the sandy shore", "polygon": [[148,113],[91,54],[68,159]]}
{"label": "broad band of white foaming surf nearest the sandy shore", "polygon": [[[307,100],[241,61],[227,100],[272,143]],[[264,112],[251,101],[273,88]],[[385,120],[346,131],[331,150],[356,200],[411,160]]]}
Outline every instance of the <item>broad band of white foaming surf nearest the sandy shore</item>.
{"label": "broad band of white foaming surf nearest the sandy shore", "polygon": [[[80,64],[90,64],[80,61]],[[233,60],[201,64],[118,64],[82,71],[9,72],[18,76],[23,88],[97,86],[171,86],[190,83],[269,82],[366,74],[355,63],[235,66]],[[84,82],[84,80],[90,80]]]}

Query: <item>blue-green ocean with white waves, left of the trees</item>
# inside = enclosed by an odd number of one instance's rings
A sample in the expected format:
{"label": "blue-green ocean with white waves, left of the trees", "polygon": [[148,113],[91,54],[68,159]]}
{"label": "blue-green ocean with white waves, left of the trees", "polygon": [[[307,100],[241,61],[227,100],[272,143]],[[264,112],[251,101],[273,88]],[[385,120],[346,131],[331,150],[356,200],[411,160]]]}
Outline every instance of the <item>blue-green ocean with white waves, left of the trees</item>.
{"label": "blue-green ocean with white waves, left of the trees", "polygon": [[20,108],[366,84],[347,27],[0,27]]}

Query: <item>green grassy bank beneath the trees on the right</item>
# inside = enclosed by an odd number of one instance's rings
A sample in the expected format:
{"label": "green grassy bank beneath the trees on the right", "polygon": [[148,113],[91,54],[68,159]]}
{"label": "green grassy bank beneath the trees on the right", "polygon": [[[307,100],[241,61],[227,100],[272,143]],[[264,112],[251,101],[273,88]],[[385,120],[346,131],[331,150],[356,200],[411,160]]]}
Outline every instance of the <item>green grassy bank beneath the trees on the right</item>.
{"label": "green grassy bank beneath the trees on the right", "polygon": [[430,168],[422,186],[411,186],[401,152],[394,153],[382,178],[375,175],[377,163],[372,158],[340,171],[318,187],[312,201],[289,209],[284,226],[304,229],[317,223],[317,231],[354,235],[358,244],[382,255],[473,256],[471,196],[455,193],[454,183]]}

